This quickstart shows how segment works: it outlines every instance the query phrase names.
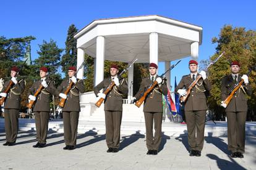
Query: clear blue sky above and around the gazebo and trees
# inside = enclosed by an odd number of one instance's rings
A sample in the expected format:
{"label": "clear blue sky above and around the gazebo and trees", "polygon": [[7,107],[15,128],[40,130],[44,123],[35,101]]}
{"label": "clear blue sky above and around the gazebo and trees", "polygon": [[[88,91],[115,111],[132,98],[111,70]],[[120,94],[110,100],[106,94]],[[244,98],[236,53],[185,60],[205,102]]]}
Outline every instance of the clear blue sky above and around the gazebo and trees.
{"label": "clear blue sky above and around the gazebo and trees", "polygon": [[[17,38],[35,36],[31,42],[32,60],[38,57],[38,44],[53,39],[61,48],[65,47],[67,29],[74,24],[79,30],[100,18],[129,17],[139,15],[162,15],[182,22],[203,27],[202,45],[199,47],[198,60],[209,59],[215,54],[216,44],[211,43],[218,37],[224,25],[242,26],[256,30],[256,1],[12,1],[0,2],[0,36]],[[190,57],[182,59],[171,72],[171,85],[174,77],[179,83],[182,75],[189,73]],[[172,62],[172,64],[175,63]],[[159,64],[158,73],[164,71],[164,63]]]}

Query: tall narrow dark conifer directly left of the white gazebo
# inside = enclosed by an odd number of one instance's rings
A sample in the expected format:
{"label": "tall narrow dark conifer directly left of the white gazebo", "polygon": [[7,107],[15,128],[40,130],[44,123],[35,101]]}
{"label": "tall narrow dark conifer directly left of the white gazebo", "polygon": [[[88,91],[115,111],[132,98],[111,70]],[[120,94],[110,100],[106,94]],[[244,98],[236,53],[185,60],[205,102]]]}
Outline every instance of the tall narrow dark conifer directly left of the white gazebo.
{"label": "tall narrow dark conifer directly left of the white gazebo", "polygon": [[65,54],[62,55],[61,66],[63,73],[67,74],[67,68],[77,65],[77,40],[74,38],[77,28],[72,24],[67,31]]}

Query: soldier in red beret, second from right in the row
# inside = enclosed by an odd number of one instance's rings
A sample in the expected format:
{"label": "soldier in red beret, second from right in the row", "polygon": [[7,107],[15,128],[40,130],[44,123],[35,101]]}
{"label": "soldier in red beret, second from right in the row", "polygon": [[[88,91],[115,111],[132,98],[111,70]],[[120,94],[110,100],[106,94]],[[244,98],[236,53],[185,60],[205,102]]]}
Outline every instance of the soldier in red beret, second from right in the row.
{"label": "soldier in red beret, second from right in the row", "polygon": [[[189,85],[197,78],[198,63],[195,60],[189,61],[190,74],[183,76],[177,85],[175,92],[181,96],[187,95]],[[205,71],[201,71],[201,79],[190,91],[190,95],[184,104],[186,115],[187,134],[189,140],[189,156],[201,156],[203,149],[205,118],[207,113],[207,95],[210,94],[211,84],[208,81]],[[195,135],[197,132],[197,135]]]}

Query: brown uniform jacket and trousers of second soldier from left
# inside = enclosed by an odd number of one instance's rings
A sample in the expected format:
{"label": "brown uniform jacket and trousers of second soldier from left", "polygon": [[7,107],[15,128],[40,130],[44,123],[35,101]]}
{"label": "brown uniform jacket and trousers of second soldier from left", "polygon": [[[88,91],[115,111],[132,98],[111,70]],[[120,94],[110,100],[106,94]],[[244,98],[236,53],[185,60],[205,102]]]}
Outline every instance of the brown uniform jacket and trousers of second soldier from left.
{"label": "brown uniform jacket and trousers of second soldier from left", "polygon": [[[29,95],[34,95],[38,88],[41,86],[43,79],[35,81],[29,89]],[[33,111],[35,112],[36,124],[36,140],[39,144],[46,144],[46,136],[48,131],[49,111],[50,111],[50,98],[51,95],[56,95],[56,88],[54,82],[49,78],[45,79],[48,87],[43,87],[40,94],[37,95]]]}

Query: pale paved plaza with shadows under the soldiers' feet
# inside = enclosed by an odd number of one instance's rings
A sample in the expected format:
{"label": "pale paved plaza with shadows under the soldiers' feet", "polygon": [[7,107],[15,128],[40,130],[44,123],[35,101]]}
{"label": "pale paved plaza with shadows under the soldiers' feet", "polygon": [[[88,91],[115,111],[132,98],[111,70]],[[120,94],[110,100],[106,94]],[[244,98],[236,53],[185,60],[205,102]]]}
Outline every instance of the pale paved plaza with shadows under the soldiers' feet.
{"label": "pale paved plaza with shadows under the soldiers' feet", "polygon": [[0,169],[255,169],[256,137],[247,136],[245,158],[229,158],[227,137],[206,137],[201,157],[190,157],[186,135],[163,134],[158,155],[146,155],[145,134],[121,136],[118,153],[106,153],[104,134],[78,135],[75,150],[63,150],[63,134],[50,130],[46,148],[33,148],[36,132],[20,131],[17,145],[5,147],[0,133]]}

